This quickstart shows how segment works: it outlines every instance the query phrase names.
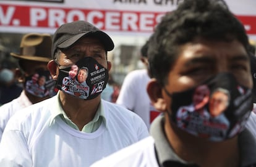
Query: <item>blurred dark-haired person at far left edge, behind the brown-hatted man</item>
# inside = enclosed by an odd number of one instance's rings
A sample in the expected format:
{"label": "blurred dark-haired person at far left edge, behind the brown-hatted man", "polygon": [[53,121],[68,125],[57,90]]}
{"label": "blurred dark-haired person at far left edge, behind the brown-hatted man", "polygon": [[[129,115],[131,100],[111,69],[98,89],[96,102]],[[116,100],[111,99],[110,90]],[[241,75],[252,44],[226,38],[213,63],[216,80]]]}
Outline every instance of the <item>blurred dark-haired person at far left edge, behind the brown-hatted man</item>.
{"label": "blurred dark-haired person at far left edge, behind the brown-hatted man", "polygon": [[4,59],[0,64],[0,105],[20,96],[22,86],[17,84],[15,70],[19,65],[15,60]]}

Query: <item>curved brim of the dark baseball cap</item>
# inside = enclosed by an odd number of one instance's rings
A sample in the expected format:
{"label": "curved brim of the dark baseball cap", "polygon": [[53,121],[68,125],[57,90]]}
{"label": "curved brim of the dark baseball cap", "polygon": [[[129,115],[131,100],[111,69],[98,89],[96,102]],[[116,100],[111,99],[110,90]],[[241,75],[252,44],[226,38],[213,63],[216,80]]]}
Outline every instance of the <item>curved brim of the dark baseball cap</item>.
{"label": "curved brim of the dark baseball cap", "polygon": [[67,39],[63,43],[58,44],[58,47],[62,48],[62,49],[70,47],[77,40],[79,40],[80,38],[82,38],[84,36],[93,36],[93,37],[100,39],[100,41],[105,46],[106,51],[112,51],[114,49],[114,43],[113,43],[112,39],[103,31],[90,31],[87,33],[80,33],[78,35],[72,36],[71,38]]}

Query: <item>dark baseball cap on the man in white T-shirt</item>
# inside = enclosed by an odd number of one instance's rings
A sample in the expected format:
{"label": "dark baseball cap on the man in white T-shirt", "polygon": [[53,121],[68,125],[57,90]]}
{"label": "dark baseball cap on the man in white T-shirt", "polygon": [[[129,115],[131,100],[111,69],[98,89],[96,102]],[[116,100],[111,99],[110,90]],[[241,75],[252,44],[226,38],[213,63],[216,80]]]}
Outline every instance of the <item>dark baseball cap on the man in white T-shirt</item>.
{"label": "dark baseball cap on the man in white T-shirt", "polygon": [[106,51],[112,51],[114,49],[114,43],[112,39],[103,31],[96,28],[83,20],[65,23],[61,25],[53,35],[53,45],[51,47],[51,55],[54,59],[54,53],[57,48],[65,49],[72,46],[77,40],[84,36],[93,36],[100,39],[105,46]]}

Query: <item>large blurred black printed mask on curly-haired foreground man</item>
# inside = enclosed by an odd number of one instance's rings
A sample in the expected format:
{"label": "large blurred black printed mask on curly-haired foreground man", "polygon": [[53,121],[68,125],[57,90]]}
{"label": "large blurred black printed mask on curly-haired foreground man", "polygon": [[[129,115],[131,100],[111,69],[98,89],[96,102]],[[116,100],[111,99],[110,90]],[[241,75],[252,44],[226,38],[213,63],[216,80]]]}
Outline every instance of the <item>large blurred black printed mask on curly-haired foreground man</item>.
{"label": "large blurred black printed mask on curly-haired foreground man", "polygon": [[252,89],[239,85],[229,73],[220,73],[187,91],[166,93],[172,99],[170,120],[210,141],[236,136],[252,111]]}

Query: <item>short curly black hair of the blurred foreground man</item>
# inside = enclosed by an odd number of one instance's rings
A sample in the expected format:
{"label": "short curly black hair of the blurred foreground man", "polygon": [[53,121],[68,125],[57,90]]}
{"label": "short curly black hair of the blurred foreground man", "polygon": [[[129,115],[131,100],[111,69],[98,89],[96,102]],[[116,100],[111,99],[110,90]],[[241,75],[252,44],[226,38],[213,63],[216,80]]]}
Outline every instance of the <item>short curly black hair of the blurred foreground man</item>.
{"label": "short curly black hair of the blurred foreground man", "polygon": [[176,10],[163,16],[150,39],[148,61],[151,75],[160,84],[166,84],[181,46],[197,38],[208,41],[237,39],[249,51],[244,25],[224,1],[184,0]]}

